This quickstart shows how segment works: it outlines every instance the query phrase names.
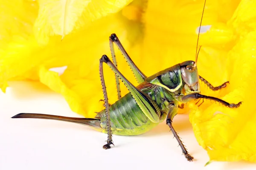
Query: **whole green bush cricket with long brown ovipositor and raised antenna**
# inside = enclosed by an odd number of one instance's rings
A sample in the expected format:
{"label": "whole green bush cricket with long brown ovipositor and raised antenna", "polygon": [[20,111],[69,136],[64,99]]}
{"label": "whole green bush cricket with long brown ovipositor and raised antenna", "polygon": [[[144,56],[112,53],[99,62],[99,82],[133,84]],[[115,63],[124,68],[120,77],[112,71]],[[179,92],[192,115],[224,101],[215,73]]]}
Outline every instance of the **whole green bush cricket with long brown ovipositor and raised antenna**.
{"label": "whole green bush cricket with long brown ovipositor and raised antenna", "polygon": [[[198,37],[200,28],[201,24]],[[178,108],[182,108],[182,105],[179,106],[179,102],[186,103],[193,99],[209,99],[229,108],[238,108],[241,105],[241,102],[230,104],[224,100],[200,94],[199,79],[213,91],[226,87],[228,83],[224,82],[220,86],[213,87],[206,79],[198,75],[197,58],[200,48],[198,52],[196,49],[195,61],[185,61],[150,77],[146,77],[131,60],[116,34],[111,34],[109,43],[113,62],[106,55],[103,55],[99,60],[99,73],[104,94],[105,109],[98,112],[94,118],[73,118],[36,113],[20,113],[12,118],[53,119],[89,125],[104,133],[108,133],[108,140],[107,144],[103,146],[104,149],[111,148],[111,144],[113,144],[112,134],[125,136],[139,135],[151,130],[166,119],[166,124],[170,127],[170,130],[177,139],[185,158],[188,161],[192,161],[194,158],[189,155],[186,147],[172,126],[172,120],[177,114]],[[139,82],[137,87],[129,82],[117,69],[113,44],[116,44],[128,62],[128,65],[130,65],[132,72]],[[103,76],[103,63],[106,63],[116,74],[118,101],[112,105],[108,103],[108,95]],[[120,92],[119,79],[122,80],[130,92],[123,97]]]}

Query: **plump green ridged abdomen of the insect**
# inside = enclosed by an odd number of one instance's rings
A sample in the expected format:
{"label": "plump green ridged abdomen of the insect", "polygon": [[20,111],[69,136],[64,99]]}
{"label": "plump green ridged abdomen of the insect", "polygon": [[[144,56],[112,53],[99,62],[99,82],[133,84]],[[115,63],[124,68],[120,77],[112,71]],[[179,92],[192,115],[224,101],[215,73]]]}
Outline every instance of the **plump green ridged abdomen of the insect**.
{"label": "plump green ridged abdomen of the insect", "polygon": [[[101,117],[101,127],[107,133],[105,110],[97,116]],[[152,123],[141,111],[131,94],[126,94],[110,107],[111,129],[116,135],[139,135],[157,125]]]}

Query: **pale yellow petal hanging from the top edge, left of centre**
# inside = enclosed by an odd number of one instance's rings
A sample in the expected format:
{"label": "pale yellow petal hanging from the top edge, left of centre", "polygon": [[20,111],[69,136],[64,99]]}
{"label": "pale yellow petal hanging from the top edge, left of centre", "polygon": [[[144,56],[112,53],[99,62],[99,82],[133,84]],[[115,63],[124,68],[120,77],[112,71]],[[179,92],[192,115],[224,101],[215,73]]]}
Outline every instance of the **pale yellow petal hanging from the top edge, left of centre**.
{"label": "pale yellow petal hanging from the top edge, left of centre", "polygon": [[40,44],[46,45],[49,37],[62,38],[74,28],[119,11],[131,0],[39,0],[39,13],[34,32]]}

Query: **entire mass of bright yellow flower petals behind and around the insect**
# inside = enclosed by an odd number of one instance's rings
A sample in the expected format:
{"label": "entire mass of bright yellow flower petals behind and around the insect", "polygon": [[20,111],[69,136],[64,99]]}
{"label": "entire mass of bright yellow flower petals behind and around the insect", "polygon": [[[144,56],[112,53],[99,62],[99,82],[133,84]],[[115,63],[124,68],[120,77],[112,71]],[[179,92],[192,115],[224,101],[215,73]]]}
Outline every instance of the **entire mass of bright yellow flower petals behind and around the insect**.
{"label": "entire mass of bright yellow flower petals behind and around the insect", "polygon": [[[99,58],[110,56],[111,33],[119,36],[147,76],[195,59],[204,0],[95,1],[0,2],[0,88],[5,91],[10,80],[40,81],[62,94],[74,112],[91,117],[103,109]],[[248,0],[206,3],[202,26],[211,28],[200,35],[199,74],[214,86],[226,81],[230,85],[217,92],[202,85],[201,93],[231,103],[243,101],[237,109],[209,101],[198,108],[189,102],[187,110],[180,111],[191,111],[195,137],[212,161],[256,161],[255,8]],[[116,56],[121,72],[128,70],[117,49]],[[63,66],[63,74],[51,71]],[[113,103],[114,76],[107,67],[104,71]],[[137,85],[131,72],[124,75]],[[127,93],[121,88],[122,95]]]}

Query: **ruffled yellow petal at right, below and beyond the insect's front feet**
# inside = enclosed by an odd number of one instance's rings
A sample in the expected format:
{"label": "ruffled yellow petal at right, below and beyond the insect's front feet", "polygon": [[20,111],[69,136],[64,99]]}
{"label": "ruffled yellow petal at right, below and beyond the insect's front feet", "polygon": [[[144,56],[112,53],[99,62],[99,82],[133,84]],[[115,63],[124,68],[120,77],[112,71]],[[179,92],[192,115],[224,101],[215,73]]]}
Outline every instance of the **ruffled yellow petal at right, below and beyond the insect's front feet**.
{"label": "ruffled yellow petal at right, below and beyond the insect's front feet", "polygon": [[230,85],[225,101],[238,103],[240,108],[230,109],[218,104],[190,114],[195,136],[214,161],[256,162],[256,108],[253,98],[256,94],[256,32],[240,40],[228,56]]}

